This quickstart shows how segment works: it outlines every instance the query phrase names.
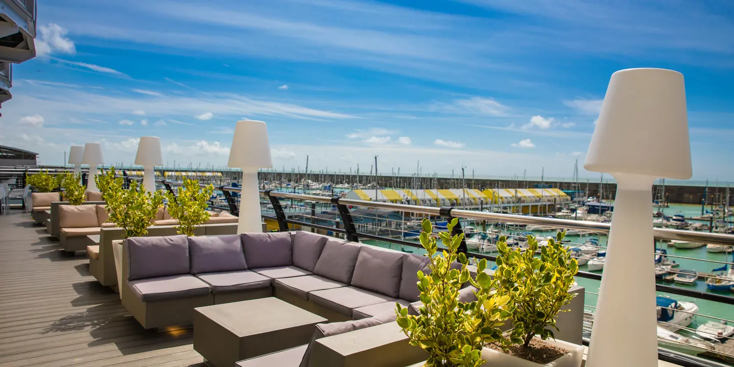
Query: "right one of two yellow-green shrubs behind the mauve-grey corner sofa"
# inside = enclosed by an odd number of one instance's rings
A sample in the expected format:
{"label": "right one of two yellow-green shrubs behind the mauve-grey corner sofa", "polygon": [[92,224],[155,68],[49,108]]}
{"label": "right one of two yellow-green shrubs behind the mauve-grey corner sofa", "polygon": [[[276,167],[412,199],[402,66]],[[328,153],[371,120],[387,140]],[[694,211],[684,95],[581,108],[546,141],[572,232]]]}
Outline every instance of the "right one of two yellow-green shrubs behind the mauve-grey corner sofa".
{"label": "right one of two yellow-green shrubs behind the mauve-grey corner sofa", "polygon": [[209,220],[207,201],[214,192],[214,186],[210,184],[202,189],[199,181],[183,178],[183,186],[176,192],[177,195],[172,192],[166,194],[168,213],[178,220],[178,233],[194,236],[194,228]]}

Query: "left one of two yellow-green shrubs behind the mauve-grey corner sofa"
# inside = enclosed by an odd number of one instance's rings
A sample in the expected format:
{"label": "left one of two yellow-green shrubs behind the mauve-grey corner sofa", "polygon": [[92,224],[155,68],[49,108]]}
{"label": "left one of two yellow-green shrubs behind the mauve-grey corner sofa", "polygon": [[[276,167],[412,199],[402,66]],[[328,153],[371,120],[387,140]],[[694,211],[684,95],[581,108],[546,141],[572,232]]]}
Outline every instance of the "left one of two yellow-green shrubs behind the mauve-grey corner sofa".
{"label": "left one of two yellow-green shrubs behind the mauve-grey corner sofa", "polygon": [[[112,175],[114,177],[114,173]],[[130,189],[124,189],[122,180],[113,179],[103,198],[107,203],[109,222],[123,228],[126,239],[147,234],[150,222],[156,218],[158,208],[163,204],[160,192],[145,192],[138,187],[137,181],[130,184]]]}

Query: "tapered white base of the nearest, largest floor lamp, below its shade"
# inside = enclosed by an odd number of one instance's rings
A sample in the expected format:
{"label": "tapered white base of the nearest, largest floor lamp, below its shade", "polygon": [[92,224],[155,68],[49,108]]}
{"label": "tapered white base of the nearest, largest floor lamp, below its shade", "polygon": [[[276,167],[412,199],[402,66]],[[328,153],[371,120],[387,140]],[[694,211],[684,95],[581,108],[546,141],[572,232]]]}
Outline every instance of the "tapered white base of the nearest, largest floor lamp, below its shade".
{"label": "tapered white base of the nearest, largest floor lamp, below its shade", "polygon": [[655,177],[614,174],[614,179],[617,197],[586,366],[658,366],[650,216]]}

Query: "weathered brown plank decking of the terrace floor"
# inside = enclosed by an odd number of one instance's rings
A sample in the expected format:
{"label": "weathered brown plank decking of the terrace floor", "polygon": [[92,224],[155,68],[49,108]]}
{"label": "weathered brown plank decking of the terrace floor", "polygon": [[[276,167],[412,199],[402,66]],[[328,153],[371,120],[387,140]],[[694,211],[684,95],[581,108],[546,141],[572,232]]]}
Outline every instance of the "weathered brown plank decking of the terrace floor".
{"label": "weathered brown plank decking of the terrace floor", "polygon": [[156,333],[29,214],[0,215],[0,366],[204,366],[192,330]]}

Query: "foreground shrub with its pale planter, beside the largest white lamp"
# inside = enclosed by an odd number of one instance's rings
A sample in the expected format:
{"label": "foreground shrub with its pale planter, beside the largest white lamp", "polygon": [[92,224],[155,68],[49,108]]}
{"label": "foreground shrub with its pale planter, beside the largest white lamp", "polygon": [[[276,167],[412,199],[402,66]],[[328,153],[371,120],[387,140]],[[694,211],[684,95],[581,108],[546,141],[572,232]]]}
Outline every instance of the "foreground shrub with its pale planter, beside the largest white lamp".
{"label": "foreground shrub with its pale planter, beside the largest white lamp", "polygon": [[[514,326],[507,338],[512,346],[493,345],[482,353],[490,363],[498,366],[553,366],[578,367],[584,355],[584,347],[564,341],[556,341],[553,330],[556,316],[568,305],[575,294],[569,294],[573,276],[578,272],[578,262],[561,241],[549,239],[540,247],[538,241],[528,236],[528,249],[512,249],[504,237],[497,244],[499,255],[494,274],[494,286],[498,295],[509,297],[512,305],[510,319]],[[552,339],[552,340],[551,340]]]}

